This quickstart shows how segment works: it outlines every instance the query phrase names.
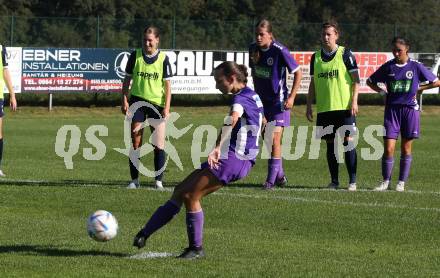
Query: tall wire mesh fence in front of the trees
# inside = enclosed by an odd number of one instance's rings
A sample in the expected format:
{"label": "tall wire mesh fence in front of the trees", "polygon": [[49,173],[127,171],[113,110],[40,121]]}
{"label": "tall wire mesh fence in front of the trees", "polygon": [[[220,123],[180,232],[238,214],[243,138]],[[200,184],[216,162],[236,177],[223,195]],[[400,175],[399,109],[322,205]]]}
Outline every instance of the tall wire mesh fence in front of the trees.
{"label": "tall wire mesh fence in front of the trees", "polygon": [[[182,20],[111,17],[0,17],[0,40],[8,46],[133,48],[145,26],[161,30],[161,48],[246,50],[254,37],[255,20]],[[285,25],[273,22],[275,37],[292,50],[315,50],[320,23]],[[440,26],[340,24],[340,43],[354,51],[390,51],[402,35],[413,52],[440,52]]]}

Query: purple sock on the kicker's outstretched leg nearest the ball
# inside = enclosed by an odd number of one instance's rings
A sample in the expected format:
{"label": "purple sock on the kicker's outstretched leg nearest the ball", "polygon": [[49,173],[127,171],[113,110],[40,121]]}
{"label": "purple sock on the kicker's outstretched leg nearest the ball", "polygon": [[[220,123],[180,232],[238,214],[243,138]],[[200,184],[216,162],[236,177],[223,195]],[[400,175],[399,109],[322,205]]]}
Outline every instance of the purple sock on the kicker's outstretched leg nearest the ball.
{"label": "purple sock on the kicker's outstretched leg nearest the ball", "polygon": [[150,237],[154,232],[165,226],[168,222],[173,219],[174,215],[178,214],[180,211],[180,206],[178,206],[174,201],[168,200],[165,204],[158,207],[153,213],[150,220],[145,224],[142,229],[142,235],[145,238]]}

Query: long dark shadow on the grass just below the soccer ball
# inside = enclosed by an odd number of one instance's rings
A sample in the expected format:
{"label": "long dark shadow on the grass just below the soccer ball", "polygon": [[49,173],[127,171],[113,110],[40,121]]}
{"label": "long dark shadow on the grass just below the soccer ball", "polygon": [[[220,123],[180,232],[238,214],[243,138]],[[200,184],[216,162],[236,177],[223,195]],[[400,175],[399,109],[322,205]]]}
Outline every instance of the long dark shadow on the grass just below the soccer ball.
{"label": "long dark shadow on the grass just below the soccer ball", "polygon": [[24,254],[38,254],[49,257],[79,257],[79,256],[110,256],[110,257],[127,257],[124,253],[115,253],[99,250],[72,250],[57,248],[53,246],[40,245],[1,245],[1,253],[24,253]]}

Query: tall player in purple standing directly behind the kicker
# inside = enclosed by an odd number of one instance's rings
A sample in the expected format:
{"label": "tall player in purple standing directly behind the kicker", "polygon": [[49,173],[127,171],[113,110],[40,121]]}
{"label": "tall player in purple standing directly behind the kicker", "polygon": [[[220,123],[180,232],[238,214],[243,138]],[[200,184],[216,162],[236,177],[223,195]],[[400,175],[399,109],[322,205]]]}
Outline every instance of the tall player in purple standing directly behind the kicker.
{"label": "tall player in purple standing directly behind the kicker", "polygon": [[[290,125],[290,109],[301,82],[301,70],[289,50],[275,40],[272,25],[261,20],[255,27],[255,43],[249,47],[249,65],[255,91],[264,105],[264,116],[268,124],[274,126],[271,145],[271,159],[264,189],[287,184],[281,155],[283,128]],[[287,71],[294,74],[290,93],[287,89]],[[269,130],[268,128],[265,128]],[[270,138],[265,138],[270,140]]]}

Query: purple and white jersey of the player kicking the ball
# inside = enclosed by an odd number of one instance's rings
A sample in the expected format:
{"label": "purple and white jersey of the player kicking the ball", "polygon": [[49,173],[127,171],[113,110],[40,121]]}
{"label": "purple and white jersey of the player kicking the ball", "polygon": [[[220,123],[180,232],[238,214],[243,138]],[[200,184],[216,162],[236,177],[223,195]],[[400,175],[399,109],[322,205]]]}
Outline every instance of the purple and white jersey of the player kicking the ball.
{"label": "purple and white jersey of the player kicking the ball", "polygon": [[234,95],[231,111],[238,112],[240,119],[232,129],[229,151],[235,152],[242,160],[255,162],[263,121],[260,97],[252,89],[245,87]]}

